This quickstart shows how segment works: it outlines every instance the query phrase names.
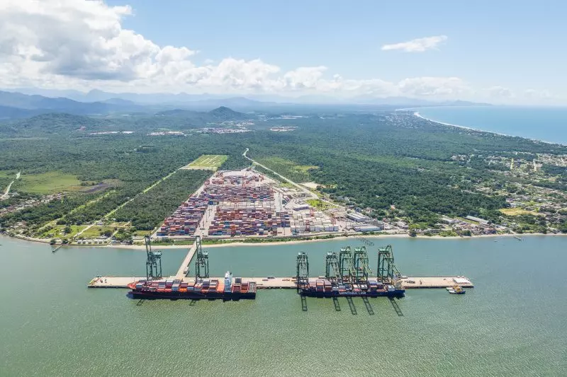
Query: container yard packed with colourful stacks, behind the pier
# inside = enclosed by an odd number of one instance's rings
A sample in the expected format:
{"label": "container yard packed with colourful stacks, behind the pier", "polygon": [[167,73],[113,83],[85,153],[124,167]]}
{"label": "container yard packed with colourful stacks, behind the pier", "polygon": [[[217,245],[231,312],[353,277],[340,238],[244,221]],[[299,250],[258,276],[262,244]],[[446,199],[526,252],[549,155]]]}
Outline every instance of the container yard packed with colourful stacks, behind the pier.
{"label": "container yard packed with colourful stacks, behind the pier", "polygon": [[[309,192],[279,187],[255,170],[218,171],[164,219],[155,237],[303,237],[376,232],[379,221],[335,205],[316,209]],[[320,201],[319,201],[320,202]]]}

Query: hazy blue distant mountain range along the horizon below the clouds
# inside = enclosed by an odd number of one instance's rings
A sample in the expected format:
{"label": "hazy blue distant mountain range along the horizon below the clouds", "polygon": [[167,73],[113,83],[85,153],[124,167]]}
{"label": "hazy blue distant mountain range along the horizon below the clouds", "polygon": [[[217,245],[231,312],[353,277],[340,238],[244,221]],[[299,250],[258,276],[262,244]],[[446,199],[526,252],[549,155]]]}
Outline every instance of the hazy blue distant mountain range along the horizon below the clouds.
{"label": "hazy blue distant mountain range along the horizon below the clouds", "polygon": [[[251,95],[223,97],[212,94],[138,94],[108,93],[98,90],[46,91],[21,89],[22,92],[0,91],[0,119],[31,117],[49,112],[67,112],[73,115],[154,114],[181,115],[182,110],[208,111],[215,108],[231,108],[241,112],[281,112],[292,110],[313,111],[372,111],[381,108],[412,108],[420,106],[487,105],[467,101],[434,102],[405,97],[366,98],[336,100],[324,96],[285,98],[276,95]],[[41,93],[41,94],[40,94]],[[56,96],[60,94],[61,96]],[[66,95],[66,96],[64,96]],[[339,106],[339,108],[337,108]],[[172,111],[172,112],[168,112]],[[227,118],[229,119],[229,118]],[[231,118],[234,119],[234,118]]]}

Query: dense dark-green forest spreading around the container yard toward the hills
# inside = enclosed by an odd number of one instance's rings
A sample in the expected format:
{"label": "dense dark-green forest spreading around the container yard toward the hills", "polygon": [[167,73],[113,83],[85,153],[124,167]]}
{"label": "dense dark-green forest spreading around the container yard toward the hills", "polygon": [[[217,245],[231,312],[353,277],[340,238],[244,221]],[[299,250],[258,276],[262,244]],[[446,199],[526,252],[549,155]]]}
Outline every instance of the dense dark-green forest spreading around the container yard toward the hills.
{"label": "dense dark-green forest spreading around the container yard toward the hills", "polygon": [[[137,229],[159,224],[186,199],[210,172],[179,171],[145,194],[142,190],[185,166],[201,154],[228,155],[221,169],[249,165],[242,152],[269,168],[301,182],[314,180],[330,197],[356,207],[369,207],[375,216],[405,216],[415,224],[434,224],[439,214],[476,215],[496,220],[503,197],[473,192],[479,182],[523,182],[488,166],[483,156],[522,152],[567,153],[567,147],[517,137],[445,127],[409,114],[317,114],[297,119],[276,116],[256,121],[254,132],[149,136],[162,130],[210,127],[209,122],[249,118],[230,109],[210,113],[170,112],[160,116],[78,117],[40,115],[0,124],[0,173],[22,172],[15,188],[26,194],[26,175],[60,172],[73,175],[86,190],[64,190],[62,200],[40,204],[0,218],[0,226],[28,221],[37,227],[48,221],[89,224],[120,204],[113,214],[133,221]],[[271,132],[273,126],[294,126],[292,132]],[[134,131],[133,134],[91,132]],[[455,156],[472,156],[466,161]],[[564,168],[544,166],[558,180],[538,185],[566,190]],[[6,183],[6,175],[0,174]],[[89,191],[90,185],[101,190]],[[497,188],[497,187],[495,187]],[[10,199],[11,202],[18,201]],[[394,206],[395,209],[392,209]]]}

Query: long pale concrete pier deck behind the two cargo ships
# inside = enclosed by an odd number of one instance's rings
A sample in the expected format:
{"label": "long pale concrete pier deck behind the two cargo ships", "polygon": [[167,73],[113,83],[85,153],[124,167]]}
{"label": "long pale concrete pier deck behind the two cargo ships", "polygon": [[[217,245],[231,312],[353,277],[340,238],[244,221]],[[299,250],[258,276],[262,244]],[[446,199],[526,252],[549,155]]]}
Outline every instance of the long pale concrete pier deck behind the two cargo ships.
{"label": "long pale concrete pier deck behind the two cargo ships", "polygon": [[[189,254],[188,256],[189,257]],[[187,259],[187,258],[186,258]],[[190,261],[191,259],[189,259]],[[179,272],[178,272],[179,274]],[[145,277],[95,277],[89,282],[89,288],[128,288],[128,284],[137,280],[145,279]],[[166,277],[165,279],[181,279],[183,282],[194,283],[194,277],[184,277],[183,268],[181,268],[181,277],[178,275]],[[210,279],[218,279],[222,282],[224,277],[210,277]],[[310,281],[315,281],[317,277],[310,277]],[[243,282],[255,282],[258,289],[296,289],[295,277],[275,277],[268,279],[266,277],[242,277]],[[414,283],[410,283],[414,282]],[[473,288],[474,284],[466,277],[408,277],[402,279],[404,289],[435,289],[447,288],[458,284],[463,288]]]}

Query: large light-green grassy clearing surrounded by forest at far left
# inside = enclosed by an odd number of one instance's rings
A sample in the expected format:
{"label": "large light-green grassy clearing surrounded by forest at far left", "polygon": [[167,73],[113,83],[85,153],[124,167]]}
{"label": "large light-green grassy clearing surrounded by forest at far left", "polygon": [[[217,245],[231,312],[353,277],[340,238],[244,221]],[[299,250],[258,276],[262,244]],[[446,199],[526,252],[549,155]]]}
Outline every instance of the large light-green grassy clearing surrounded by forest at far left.
{"label": "large light-green grassy clearing surrounded by forest at far left", "polygon": [[77,191],[83,187],[76,176],[58,171],[41,174],[22,173],[19,180],[14,183],[14,190],[31,192],[33,194],[54,194],[62,191]]}

